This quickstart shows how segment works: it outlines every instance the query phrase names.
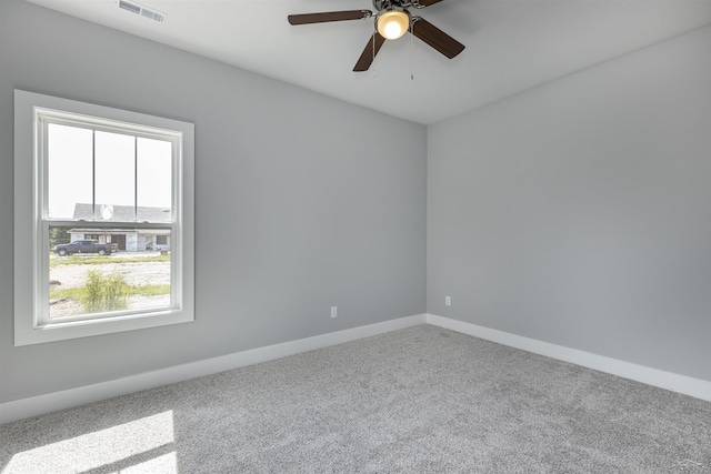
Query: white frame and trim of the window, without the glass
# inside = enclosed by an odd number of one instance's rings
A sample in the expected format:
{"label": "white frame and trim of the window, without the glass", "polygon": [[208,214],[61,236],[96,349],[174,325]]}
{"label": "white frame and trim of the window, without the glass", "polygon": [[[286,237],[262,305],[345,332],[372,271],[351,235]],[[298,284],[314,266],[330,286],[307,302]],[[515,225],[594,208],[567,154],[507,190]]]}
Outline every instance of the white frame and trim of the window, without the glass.
{"label": "white frame and trim of the window, without the glass", "polygon": [[[138,137],[169,137],[172,157],[171,302],[169,307],[49,319],[50,225],[76,221],[50,219],[47,209],[46,122],[97,130],[129,131]],[[94,223],[96,224],[96,223]],[[103,225],[103,224],[102,224]],[[106,225],[116,225],[107,223]],[[156,228],[156,223],[132,223]],[[110,334],[194,321],[194,125],[172,119],[14,91],[14,345]]]}

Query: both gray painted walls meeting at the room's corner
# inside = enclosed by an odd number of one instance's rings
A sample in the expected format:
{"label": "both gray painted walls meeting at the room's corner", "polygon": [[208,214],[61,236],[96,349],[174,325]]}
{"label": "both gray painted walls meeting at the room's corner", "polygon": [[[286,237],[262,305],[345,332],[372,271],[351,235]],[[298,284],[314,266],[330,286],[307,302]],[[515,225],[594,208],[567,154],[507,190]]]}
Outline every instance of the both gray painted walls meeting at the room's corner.
{"label": "both gray painted walls meeting at the room's corner", "polygon": [[[0,401],[418,314],[425,263],[431,313],[711,380],[710,58],[707,28],[425,137],[0,0]],[[194,323],[12,346],[14,88],[196,123]]]}

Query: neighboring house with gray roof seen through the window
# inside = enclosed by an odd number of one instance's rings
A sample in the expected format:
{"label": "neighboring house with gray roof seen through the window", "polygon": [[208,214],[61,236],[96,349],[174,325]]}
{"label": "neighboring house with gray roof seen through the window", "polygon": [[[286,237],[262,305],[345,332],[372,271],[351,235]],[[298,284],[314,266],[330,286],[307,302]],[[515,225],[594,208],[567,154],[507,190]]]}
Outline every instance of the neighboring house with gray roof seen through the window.
{"label": "neighboring house with gray roof seen through the window", "polygon": [[[136,213],[138,213],[138,219]],[[163,208],[133,208],[132,205],[109,205],[97,204],[96,215],[91,204],[78,203],[74,205],[73,219],[84,221],[150,221],[170,222],[170,210]],[[119,250],[144,251],[144,250],[170,250],[170,230],[168,229],[103,229],[100,233],[97,229],[76,228],[69,230],[70,241],[83,239],[94,239],[99,243],[113,242],[119,245]]]}

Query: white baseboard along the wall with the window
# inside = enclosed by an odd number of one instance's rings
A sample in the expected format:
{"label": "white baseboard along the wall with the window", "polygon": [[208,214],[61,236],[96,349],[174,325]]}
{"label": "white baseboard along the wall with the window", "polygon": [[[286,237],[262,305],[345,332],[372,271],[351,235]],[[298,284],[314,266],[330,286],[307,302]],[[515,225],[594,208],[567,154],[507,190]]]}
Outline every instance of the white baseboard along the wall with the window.
{"label": "white baseboard along the wall with the window", "polygon": [[108,382],[3,402],[0,403],[0,424],[424,324],[425,320],[425,314],[417,314],[313,337],[300,339],[298,341],[237,352],[220,357],[174,365]]}

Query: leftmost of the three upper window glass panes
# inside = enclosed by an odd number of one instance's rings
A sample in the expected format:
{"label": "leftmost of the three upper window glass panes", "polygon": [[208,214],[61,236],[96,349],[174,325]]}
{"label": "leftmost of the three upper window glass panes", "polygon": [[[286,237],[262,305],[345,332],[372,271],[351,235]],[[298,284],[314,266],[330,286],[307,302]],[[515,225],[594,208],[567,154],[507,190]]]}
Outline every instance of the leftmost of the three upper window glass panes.
{"label": "leftmost of the three upper window glass panes", "polygon": [[[91,205],[92,131],[49,123],[48,206],[53,219],[90,219],[76,216],[77,204]],[[90,209],[90,208],[89,208]]]}

